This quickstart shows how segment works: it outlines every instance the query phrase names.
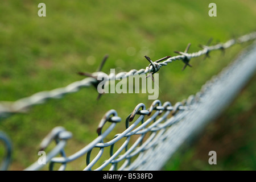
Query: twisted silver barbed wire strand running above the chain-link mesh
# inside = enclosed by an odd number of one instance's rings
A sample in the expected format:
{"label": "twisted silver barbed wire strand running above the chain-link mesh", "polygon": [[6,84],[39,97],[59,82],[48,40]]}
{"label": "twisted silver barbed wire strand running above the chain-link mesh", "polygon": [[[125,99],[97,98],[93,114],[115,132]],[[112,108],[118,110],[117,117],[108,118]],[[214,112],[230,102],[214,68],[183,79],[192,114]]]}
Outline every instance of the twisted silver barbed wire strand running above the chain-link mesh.
{"label": "twisted silver barbed wire strand running above the chain-link mesh", "polygon": [[[175,60],[182,60],[185,63],[184,65],[184,68],[185,68],[187,67],[187,65],[191,66],[189,64],[189,61],[194,57],[199,57],[202,55],[208,56],[209,53],[214,50],[224,51],[225,49],[233,46],[234,44],[245,43],[254,39],[256,39],[256,32],[252,32],[250,34],[240,36],[240,38],[237,38],[237,39],[228,40],[225,43],[218,43],[214,46],[201,46],[203,49],[193,53],[188,53],[188,49],[190,46],[190,44],[188,44],[188,47],[185,49],[184,52],[175,51],[180,55],[173,56],[173,57],[166,56],[154,62],[150,60],[148,56],[145,56],[146,59],[150,61],[150,64],[148,65],[148,67],[146,67],[146,69],[139,69],[139,70],[131,69],[129,72],[120,72],[117,75],[110,73],[108,78],[109,80],[119,80],[120,78],[126,78],[134,75],[142,75],[146,73],[150,73],[151,75],[153,75],[154,73],[158,72],[160,68],[162,68],[163,66],[166,66],[168,63],[172,63],[172,61],[175,61]],[[163,61],[163,62],[160,62],[160,61]],[[102,68],[102,65],[101,65],[101,68]],[[14,113],[25,112],[27,111],[27,109],[29,109],[29,107],[38,105],[38,104],[43,104],[50,98],[54,98],[54,99],[61,98],[65,94],[78,92],[81,88],[84,88],[84,87],[86,88],[92,85],[93,86],[98,85],[100,81],[97,80],[97,77],[99,76],[102,77],[106,75],[106,73],[100,71],[101,68],[99,69],[98,72],[91,73],[89,78],[84,78],[83,80],[73,82],[72,84],[69,84],[64,88],[57,88],[51,91],[39,92],[39,93],[33,94],[30,97],[22,98],[14,102],[1,101],[0,102],[0,118],[7,117],[8,115],[14,114]]]}

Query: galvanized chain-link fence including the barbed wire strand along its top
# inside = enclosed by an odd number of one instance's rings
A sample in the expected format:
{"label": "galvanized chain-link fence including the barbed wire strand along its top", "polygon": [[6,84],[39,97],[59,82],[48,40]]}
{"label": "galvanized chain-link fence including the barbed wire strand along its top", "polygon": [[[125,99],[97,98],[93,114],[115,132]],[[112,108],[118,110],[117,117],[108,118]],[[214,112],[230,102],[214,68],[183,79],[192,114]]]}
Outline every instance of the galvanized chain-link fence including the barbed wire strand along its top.
{"label": "galvanized chain-link fence including the barbed wire strand along its top", "polygon": [[[177,56],[179,58],[170,57],[163,61],[162,64],[156,62],[154,64],[156,69],[171,63],[172,59],[183,59],[186,64],[192,57],[205,55],[207,52],[209,53],[209,51],[215,49],[228,48],[238,41],[246,42],[255,38],[256,33],[249,34],[237,40],[229,40],[225,44],[204,48],[196,53],[188,54],[185,51],[185,53],[181,53],[183,55]],[[86,156],[86,164],[81,167],[84,170],[160,169],[185,139],[219,115],[221,110],[232,101],[246,81],[249,80],[249,77],[255,72],[255,57],[256,45],[254,44],[232,65],[225,68],[218,76],[213,77],[212,80],[203,85],[198,93],[189,96],[183,102],[177,102],[174,106],[168,101],[162,104],[159,100],[152,102],[148,109],[146,109],[146,105],[143,103],[138,104],[125,119],[126,130],[115,134],[112,140],[104,142],[104,139],[113,132],[115,126],[120,125],[119,122],[122,121],[122,118],[118,117],[117,111],[113,109],[108,111],[98,125],[98,137],[72,155],[67,156],[64,149],[68,140],[72,137],[72,133],[63,127],[55,127],[40,144],[40,150],[45,150],[53,140],[56,142],[56,146],[47,152],[46,163],[49,164],[49,169],[52,170],[55,164],[59,163],[61,164],[59,170],[65,170],[68,163],[78,159],[84,160],[84,156]],[[154,66],[150,65],[144,72],[154,73],[156,69],[153,68]],[[138,74],[144,73],[142,71],[136,72]],[[76,92],[81,86],[89,86],[95,81],[92,78],[85,78],[82,81],[68,85],[66,88],[41,92],[16,101],[7,108],[5,107],[6,105],[0,105],[2,106],[2,113],[0,115],[21,111],[24,108],[39,104],[47,98],[60,98],[63,94]],[[28,104],[26,104],[27,102]],[[111,122],[111,125],[102,133],[102,128],[106,122]],[[132,136],[137,136],[134,142],[131,142]],[[115,144],[121,139],[125,139],[125,141],[115,151]],[[0,140],[3,140],[6,144],[7,155],[4,158],[2,169],[7,169],[11,157],[11,144],[10,140],[3,133],[0,133]],[[98,148],[99,152],[91,159],[90,155],[94,148]],[[99,164],[99,160],[102,158],[106,148],[110,148],[110,158],[107,158],[104,163]],[[61,156],[57,157],[59,155]],[[44,166],[45,164],[40,164],[36,161],[27,167],[26,170],[39,170]]]}

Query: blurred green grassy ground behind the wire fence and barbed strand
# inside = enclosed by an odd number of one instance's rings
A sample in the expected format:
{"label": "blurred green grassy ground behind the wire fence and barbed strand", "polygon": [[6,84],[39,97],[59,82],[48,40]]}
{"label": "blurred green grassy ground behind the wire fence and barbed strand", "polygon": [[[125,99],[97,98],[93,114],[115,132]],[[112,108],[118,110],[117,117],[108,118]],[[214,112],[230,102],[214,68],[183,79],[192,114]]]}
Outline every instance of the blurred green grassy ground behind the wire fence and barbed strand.
{"label": "blurred green grassy ground behind the wire fence and barbed strand", "polygon": [[[110,57],[104,72],[109,73],[110,68],[130,71],[148,66],[144,55],[152,60],[172,56],[188,43],[192,43],[189,52],[193,52],[210,38],[213,43],[225,42],[255,30],[254,0],[43,1],[46,17],[38,16],[40,2],[1,3],[0,101],[15,101],[81,80],[77,72],[94,72],[106,53]],[[210,2],[217,4],[217,17],[208,16]],[[164,67],[159,72],[159,100],[175,104],[195,94],[248,44],[228,49],[225,56],[217,51],[210,59],[193,59],[193,68],[183,72],[181,61]],[[256,169],[254,93],[252,81],[192,146],[177,152],[163,169]],[[70,155],[97,137],[98,122],[106,111],[115,109],[123,118],[116,129],[121,132],[125,118],[138,103],[150,106],[152,102],[147,94],[105,94],[99,101],[96,98],[96,90],[86,88],[1,121],[0,130],[13,140],[10,169],[24,169],[35,162],[40,141],[55,126],[64,126],[73,133],[66,147]],[[210,150],[217,152],[217,166],[208,164]],[[84,168],[85,157],[82,159],[67,169]]]}

